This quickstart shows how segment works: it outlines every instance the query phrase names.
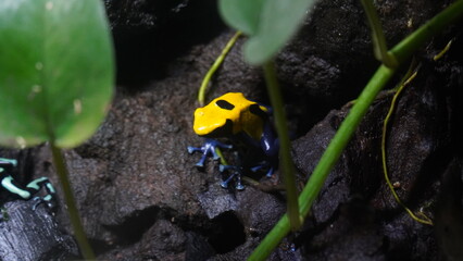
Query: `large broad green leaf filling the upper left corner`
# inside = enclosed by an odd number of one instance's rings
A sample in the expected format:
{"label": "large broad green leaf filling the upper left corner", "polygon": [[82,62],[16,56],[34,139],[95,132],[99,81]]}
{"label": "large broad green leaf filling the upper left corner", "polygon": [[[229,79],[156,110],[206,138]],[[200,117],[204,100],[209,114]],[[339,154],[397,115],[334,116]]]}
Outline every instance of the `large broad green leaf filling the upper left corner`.
{"label": "large broad green leaf filling the upper left corner", "polygon": [[100,0],[0,1],[0,144],[89,138],[114,86],[111,35]]}

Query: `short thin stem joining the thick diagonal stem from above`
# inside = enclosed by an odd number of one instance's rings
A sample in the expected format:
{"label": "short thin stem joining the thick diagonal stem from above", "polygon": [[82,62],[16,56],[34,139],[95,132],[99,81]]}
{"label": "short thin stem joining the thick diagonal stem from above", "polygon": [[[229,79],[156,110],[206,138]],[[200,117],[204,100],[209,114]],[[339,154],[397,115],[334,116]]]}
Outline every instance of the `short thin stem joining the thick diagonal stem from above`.
{"label": "short thin stem joining the thick diagonal stem from above", "polygon": [[397,67],[398,62],[396,58],[390,52],[388,52],[386,37],[383,33],[381,23],[376,12],[375,5],[373,5],[373,1],[361,0],[361,2],[372,29],[373,50],[376,59],[381,61],[388,67]]}

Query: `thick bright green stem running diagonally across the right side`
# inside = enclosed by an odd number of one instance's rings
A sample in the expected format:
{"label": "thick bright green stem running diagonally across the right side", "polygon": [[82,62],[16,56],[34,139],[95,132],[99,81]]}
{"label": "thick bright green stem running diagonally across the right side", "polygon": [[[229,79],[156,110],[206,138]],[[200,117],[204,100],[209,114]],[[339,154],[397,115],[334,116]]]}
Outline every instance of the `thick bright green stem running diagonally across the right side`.
{"label": "thick bright green stem running diagonally across the right side", "polygon": [[[445,26],[454,23],[462,15],[463,0],[459,0],[399,42],[391,52],[396,55],[399,63],[406,61],[406,59],[409,59],[424,42],[443,29]],[[395,69],[380,65],[360,95],[346,120],[342,122],[335,137],[328,145],[328,148],[323,153],[322,159],[312,173],[302,194],[299,196],[299,208],[302,217],[305,217],[309,213],[325,178],[331,171],[343,148],[347,146],[350,137],[355,132],[361,119],[366,113],[377,92],[390,79],[393,72]],[[249,260],[265,260],[288,233],[289,220],[285,214],[252,252]]]}

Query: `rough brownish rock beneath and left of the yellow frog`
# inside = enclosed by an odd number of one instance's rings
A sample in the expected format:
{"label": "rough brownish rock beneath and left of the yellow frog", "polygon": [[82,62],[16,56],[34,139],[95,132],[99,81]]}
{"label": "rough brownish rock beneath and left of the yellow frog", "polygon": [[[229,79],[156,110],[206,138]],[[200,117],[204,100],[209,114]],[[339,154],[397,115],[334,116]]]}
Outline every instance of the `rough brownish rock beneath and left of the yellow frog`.
{"label": "rough brownish rock beneath and left of the yellow frog", "polygon": [[[158,235],[152,229],[160,220],[176,221],[175,226],[164,226],[172,228],[172,234],[177,235],[176,229],[195,232],[193,237],[183,234],[186,238],[178,243],[183,246],[170,258],[200,254],[195,253],[192,245],[198,240],[209,246],[200,249],[212,249],[214,253],[233,252],[247,243],[249,254],[283,214],[283,197],[251,187],[243,192],[223,189],[216,162],[208,161],[207,170],[201,172],[195,167],[198,156],[187,152],[187,146],[202,142],[191,128],[192,112],[202,76],[198,72],[207,72],[213,62],[200,54],[211,49],[218,53],[232,35],[222,35],[212,46],[197,47],[199,53],[182,58],[170,71],[170,77],[154,80],[148,89],[118,92],[97,134],[83,146],[66,151],[82,220],[101,257],[167,257],[166,252],[161,253],[162,249],[152,248],[163,246],[162,237],[148,236]],[[227,66],[237,66],[236,62],[232,59]],[[225,77],[232,79],[239,74]],[[250,97],[260,91],[245,87],[234,88]],[[47,164],[51,160],[48,148],[38,148],[34,157],[38,159],[37,175],[49,175],[58,183],[53,169]],[[58,191],[62,195],[61,188]],[[60,217],[68,228],[66,214],[61,212]]]}

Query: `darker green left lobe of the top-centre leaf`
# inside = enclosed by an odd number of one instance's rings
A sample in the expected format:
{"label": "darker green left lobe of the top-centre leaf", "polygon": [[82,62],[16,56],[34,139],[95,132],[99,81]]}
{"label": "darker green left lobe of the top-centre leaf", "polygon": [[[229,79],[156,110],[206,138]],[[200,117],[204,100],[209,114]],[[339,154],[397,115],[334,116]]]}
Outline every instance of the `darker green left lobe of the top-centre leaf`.
{"label": "darker green left lobe of the top-centre leaf", "polygon": [[218,11],[224,21],[246,35],[255,35],[265,0],[221,0]]}

